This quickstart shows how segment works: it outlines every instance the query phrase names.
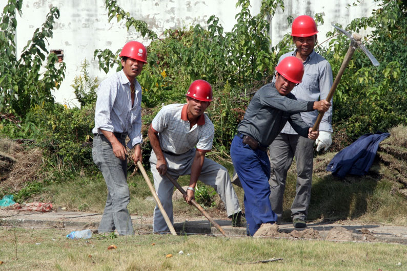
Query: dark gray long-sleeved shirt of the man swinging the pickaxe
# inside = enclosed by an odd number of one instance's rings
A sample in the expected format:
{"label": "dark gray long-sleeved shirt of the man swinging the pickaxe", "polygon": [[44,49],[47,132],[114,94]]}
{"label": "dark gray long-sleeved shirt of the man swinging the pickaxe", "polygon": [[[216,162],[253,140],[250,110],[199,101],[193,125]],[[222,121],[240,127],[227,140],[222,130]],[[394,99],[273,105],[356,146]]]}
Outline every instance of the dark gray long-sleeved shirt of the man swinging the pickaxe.
{"label": "dark gray long-sleeved shirt of the man swinging the pickaxe", "polygon": [[250,101],[237,131],[268,147],[289,121],[298,134],[308,137],[312,125],[303,122],[299,112],[313,111],[313,106],[314,102],[297,101],[291,93],[280,95],[274,83],[263,85]]}

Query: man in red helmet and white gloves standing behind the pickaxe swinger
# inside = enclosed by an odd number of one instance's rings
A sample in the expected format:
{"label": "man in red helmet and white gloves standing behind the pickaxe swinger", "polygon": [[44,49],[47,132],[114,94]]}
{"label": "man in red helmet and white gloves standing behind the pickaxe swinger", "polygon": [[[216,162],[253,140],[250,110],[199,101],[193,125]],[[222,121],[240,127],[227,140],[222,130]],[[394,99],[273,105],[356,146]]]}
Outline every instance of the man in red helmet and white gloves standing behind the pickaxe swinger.
{"label": "man in red helmet and white gloves standing behind the pickaxe swinger", "polygon": [[[318,101],[325,99],[332,86],[331,65],[314,51],[317,40],[317,26],[312,17],[298,16],[293,21],[292,33],[296,49],[280,57],[278,63],[287,57],[297,57],[304,65],[302,82],[295,86],[292,94],[298,101]],[[273,82],[275,79],[273,79]],[[318,115],[317,110],[301,112],[302,120],[313,126]],[[319,136],[315,143],[317,151],[327,150],[332,143],[332,107],[325,112],[319,125]],[[277,215],[282,217],[282,200],[286,188],[287,172],[293,158],[296,158],[297,185],[294,202],[291,206],[291,217],[295,228],[306,227],[308,207],[311,198],[311,182],[314,158],[314,140],[301,137],[287,123],[270,145],[270,202]]]}

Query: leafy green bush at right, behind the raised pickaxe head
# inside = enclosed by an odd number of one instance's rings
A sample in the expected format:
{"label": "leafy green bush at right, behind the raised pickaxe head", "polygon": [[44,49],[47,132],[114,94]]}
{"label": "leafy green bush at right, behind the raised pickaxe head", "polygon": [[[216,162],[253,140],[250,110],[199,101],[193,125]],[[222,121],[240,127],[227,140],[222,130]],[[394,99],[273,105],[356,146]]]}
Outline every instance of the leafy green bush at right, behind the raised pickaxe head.
{"label": "leafy green bush at right, behind the raised pickaxe head", "polygon": [[[373,28],[363,43],[380,62],[375,67],[361,50],[356,50],[334,95],[334,132],[347,134],[348,144],[364,133],[388,131],[407,122],[407,77],[402,76],[407,72],[406,6],[402,1],[376,2],[379,9],[370,17],[354,19],[346,27],[350,32]],[[330,41],[324,56],[331,63],[334,75],[348,46],[349,39],[344,35]]]}

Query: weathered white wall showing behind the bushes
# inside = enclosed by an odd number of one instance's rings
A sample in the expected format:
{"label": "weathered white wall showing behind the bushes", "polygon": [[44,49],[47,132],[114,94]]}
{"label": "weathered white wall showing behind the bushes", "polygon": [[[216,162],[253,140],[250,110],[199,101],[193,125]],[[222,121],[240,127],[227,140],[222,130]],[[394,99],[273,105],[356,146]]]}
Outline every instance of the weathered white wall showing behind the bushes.
{"label": "weathered white wall showing behind the bushes", "polygon": [[[3,2],[3,1],[2,1]],[[330,23],[338,22],[346,25],[353,18],[369,16],[375,8],[374,0],[365,0],[357,7],[347,9],[352,0],[293,0],[284,1],[286,9],[278,9],[271,22],[271,38],[275,45],[281,37],[290,32],[287,16],[296,17],[324,12],[325,24],[319,26],[319,41],[323,41],[325,33],[332,30]],[[56,6],[60,17],[54,26],[54,36],[49,41],[49,50],[63,50],[66,63],[66,77],[59,90],[54,93],[57,102],[70,106],[77,104],[73,88],[70,86],[75,76],[80,73],[80,63],[87,58],[90,61],[89,73],[99,80],[108,77],[98,70],[97,61],[93,59],[95,49],[110,49],[116,52],[129,40],[138,40],[146,45],[149,40],[141,38],[134,29],[127,31],[124,21],[117,23],[113,19],[108,22],[107,11],[103,0],[24,0],[23,16],[17,17],[16,44],[19,54],[32,37],[36,28],[40,27],[49,12]],[[256,14],[261,0],[252,0],[252,13]],[[118,4],[136,19],[144,20],[149,28],[158,34],[165,29],[189,26],[199,22],[205,25],[208,18],[215,14],[225,31],[230,31],[235,24],[235,0],[118,0]],[[3,8],[4,4],[0,7]]]}

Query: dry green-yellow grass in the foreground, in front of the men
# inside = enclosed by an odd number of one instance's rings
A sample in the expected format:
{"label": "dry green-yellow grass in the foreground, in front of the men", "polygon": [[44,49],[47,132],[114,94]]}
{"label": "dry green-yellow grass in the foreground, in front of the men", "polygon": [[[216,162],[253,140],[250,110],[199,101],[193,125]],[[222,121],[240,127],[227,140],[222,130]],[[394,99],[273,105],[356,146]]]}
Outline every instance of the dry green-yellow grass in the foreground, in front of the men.
{"label": "dry green-yellow grass in the foreground, in front of the men", "polygon": [[[70,240],[67,233],[0,229],[0,269],[405,270],[407,264],[406,246],[397,244],[171,235]],[[111,244],[117,249],[107,250]],[[273,257],[283,260],[250,263]]]}

